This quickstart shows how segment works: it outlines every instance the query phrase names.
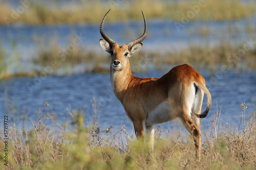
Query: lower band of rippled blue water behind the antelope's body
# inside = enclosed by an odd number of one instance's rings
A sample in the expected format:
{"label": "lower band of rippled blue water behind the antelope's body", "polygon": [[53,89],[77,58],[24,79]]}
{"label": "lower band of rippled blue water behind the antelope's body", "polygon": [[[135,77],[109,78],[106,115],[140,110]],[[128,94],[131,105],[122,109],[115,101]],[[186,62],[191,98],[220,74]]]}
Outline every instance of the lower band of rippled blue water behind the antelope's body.
{"label": "lower band of rippled blue water behind the antelope's body", "polygon": [[[172,66],[168,67],[172,68]],[[222,125],[229,123],[231,126],[238,127],[242,114],[240,111],[241,103],[245,103],[248,107],[246,113],[255,111],[256,76],[254,74],[237,74],[229,70],[223,74],[222,78],[216,78],[216,84],[210,84],[207,71],[201,70],[201,73],[212,96],[210,112],[206,118],[202,119],[204,127],[211,125],[212,116],[217,111],[217,104],[221,110],[220,123]],[[161,75],[163,72],[159,70],[147,72],[148,77],[159,78]],[[143,75],[137,76],[143,77]],[[19,117],[24,112],[28,118],[25,128],[31,129],[31,120],[37,122],[37,111],[44,108],[44,104],[48,102],[51,109],[56,112],[60,124],[66,121],[66,117],[68,117],[68,122],[72,120],[67,109],[76,111],[78,107],[84,110],[86,123],[93,123],[95,113],[91,101],[94,101],[93,98],[95,98],[96,103],[100,103],[97,116],[99,116],[99,126],[102,131],[112,125],[114,127],[113,133],[115,133],[121,129],[122,125],[125,125],[127,132],[132,134],[133,125],[112,91],[109,74],[78,74],[70,77],[47,76],[41,82],[38,81],[32,89],[29,89],[28,83],[33,84],[35,80],[36,78],[12,78],[1,81],[1,115],[7,115],[8,111],[4,100],[9,99],[16,108],[9,113],[16,113]],[[202,110],[205,106],[206,99],[204,99]],[[43,113],[51,112],[51,109],[46,107]],[[16,120],[17,126],[21,124],[22,120]],[[182,127],[181,124],[179,125]],[[176,122],[169,122],[162,125],[162,130],[175,127]]]}

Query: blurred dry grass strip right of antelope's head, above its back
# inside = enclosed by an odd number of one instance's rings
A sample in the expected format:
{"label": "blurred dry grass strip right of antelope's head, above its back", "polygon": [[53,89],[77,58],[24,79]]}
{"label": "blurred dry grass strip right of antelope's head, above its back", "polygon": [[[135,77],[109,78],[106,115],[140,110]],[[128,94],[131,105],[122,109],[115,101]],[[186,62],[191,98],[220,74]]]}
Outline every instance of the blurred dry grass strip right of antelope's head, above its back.
{"label": "blurred dry grass strip right of antelope's head, above its back", "polygon": [[[205,45],[191,44],[187,49],[173,52],[147,53],[148,58],[152,58],[151,62],[156,67],[161,67],[164,64],[178,65],[187,63],[194,67],[207,67],[210,71],[216,71],[218,65],[225,65],[227,68],[236,68],[238,70],[255,69],[256,65],[256,46],[251,50],[243,51],[243,45],[234,46],[228,43],[220,42],[219,45],[210,47],[207,43]],[[155,57],[158,56],[158,57]]]}

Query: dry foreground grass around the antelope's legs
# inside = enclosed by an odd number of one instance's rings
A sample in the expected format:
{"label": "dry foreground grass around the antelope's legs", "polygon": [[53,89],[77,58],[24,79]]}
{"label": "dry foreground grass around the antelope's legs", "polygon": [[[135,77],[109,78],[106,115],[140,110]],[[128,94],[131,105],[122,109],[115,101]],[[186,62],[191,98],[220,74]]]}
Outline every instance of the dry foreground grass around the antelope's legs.
{"label": "dry foreground grass around the antelope's legs", "polygon": [[[97,108],[97,104],[93,103]],[[97,112],[94,121],[85,124],[87,114],[81,109],[70,111],[71,124],[58,124],[48,103],[38,110],[33,129],[17,129],[9,124],[8,167],[1,161],[1,169],[255,169],[256,115],[246,113],[241,104],[238,127],[221,126],[221,112],[216,111],[212,124],[201,127],[205,134],[201,161],[195,159],[195,147],[190,136],[160,137],[156,129],[153,156],[147,145],[132,140],[123,127],[117,134],[100,130]],[[46,111],[48,110],[48,111]],[[50,110],[50,111],[49,111]],[[56,128],[46,125],[50,119]],[[203,121],[203,120],[202,120]],[[31,123],[32,124],[32,123]],[[104,132],[105,131],[105,132]],[[177,131],[177,130],[172,130]],[[3,136],[1,131],[1,136]],[[2,140],[2,139],[1,139]],[[4,143],[0,142],[3,159]]]}

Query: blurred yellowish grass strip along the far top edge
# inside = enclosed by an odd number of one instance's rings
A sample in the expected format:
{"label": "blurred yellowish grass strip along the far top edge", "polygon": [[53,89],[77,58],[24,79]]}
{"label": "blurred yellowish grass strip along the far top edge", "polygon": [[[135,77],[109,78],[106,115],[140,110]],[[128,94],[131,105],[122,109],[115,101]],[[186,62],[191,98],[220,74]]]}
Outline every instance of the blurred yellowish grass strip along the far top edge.
{"label": "blurred yellowish grass strip along the far top edge", "polygon": [[[201,3],[200,3],[201,2]],[[50,3],[50,4],[49,4]],[[256,13],[255,1],[76,1],[69,3],[31,2],[28,5],[17,3],[11,6],[6,1],[0,1],[1,25],[25,23],[28,25],[59,24],[59,23],[99,23],[103,14],[113,10],[113,15],[108,16],[108,21],[141,19],[140,11],[143,10],[147,19],[166,18],[181,21],[183,16],[188,16],[191,7],[199,9],[191,15],[189,20],[234,20],[241,19]],[[200,6],[199,6],[200,5]],[[23,8],[23,10],[22,10]],[[195,9],[194,9],[195,10]],[[15,15],[15,11],[16,15]],[[192,17],[193,16],[193,17]]]}

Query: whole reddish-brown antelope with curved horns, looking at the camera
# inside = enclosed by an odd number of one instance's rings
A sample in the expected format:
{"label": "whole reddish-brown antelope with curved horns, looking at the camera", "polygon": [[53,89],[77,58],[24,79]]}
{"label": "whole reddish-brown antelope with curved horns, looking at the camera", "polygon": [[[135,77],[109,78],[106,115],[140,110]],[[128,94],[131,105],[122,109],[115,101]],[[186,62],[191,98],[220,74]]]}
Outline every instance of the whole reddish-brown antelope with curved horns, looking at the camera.
{"label": "whole reddish-brown antelope with curved horns, looking at the camera", "polygon": [[[117,99],[122,103],[127,116],[132,120],[137,137],[150,135],[154,141],[154,125],[177,117],[191,133],[196,145],[196,156],[201,153],[200,118],[207,116],[211,106],[211,95],[205,80],[187,64],[172,68],[160,79],[142,79],[132,75],[129,57],[138,53],[147,35],[144,18],[143,35],[119,46],[103,31],[106,15],[101,21],[101,47],[111,55],[111,84]],[[201,113],[204,93],[207,95],[206,110]]]}

